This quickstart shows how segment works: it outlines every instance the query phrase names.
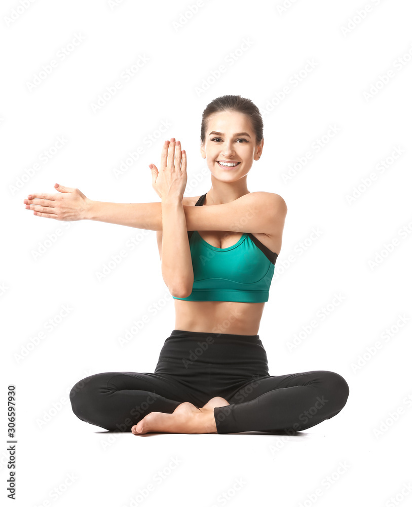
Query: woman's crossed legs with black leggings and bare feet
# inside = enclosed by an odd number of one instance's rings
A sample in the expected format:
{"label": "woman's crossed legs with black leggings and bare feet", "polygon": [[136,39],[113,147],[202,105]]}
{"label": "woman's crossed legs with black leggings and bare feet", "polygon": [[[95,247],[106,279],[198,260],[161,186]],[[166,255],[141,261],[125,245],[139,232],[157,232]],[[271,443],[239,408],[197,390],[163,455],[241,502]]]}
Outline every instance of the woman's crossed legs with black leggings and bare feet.
{"label": "woman's crossed legs with black leggings and bare feet", "polygon": [[190,389],[170,378],[111,372],[78,382],[70,391],[70,401],[81,420],[111,431],[290,433],[338,414],[346,404],[349,386],[339,374],[319,370],[258,377],[228,396],[219,394],[224,396],[211,395],[199,407]]}

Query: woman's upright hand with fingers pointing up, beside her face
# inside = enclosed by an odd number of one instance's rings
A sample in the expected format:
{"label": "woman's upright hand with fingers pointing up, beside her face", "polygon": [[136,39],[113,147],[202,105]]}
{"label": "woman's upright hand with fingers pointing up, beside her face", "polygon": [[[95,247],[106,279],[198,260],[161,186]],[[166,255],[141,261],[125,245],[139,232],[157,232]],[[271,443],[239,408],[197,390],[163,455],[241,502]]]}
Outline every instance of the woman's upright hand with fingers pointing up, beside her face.
{"label": "woman's upright hand with fingers pointing up, beside her face", "polygon": [[[174,150],[176,146],[176,158]],[[161,199],[178,197],[181,201],[186,189],[186,152],[181,149],[180,141],[174,137],[165,141],[160,159],[160,171],[155,164],[149,164],[152,171],[152,186]]]}

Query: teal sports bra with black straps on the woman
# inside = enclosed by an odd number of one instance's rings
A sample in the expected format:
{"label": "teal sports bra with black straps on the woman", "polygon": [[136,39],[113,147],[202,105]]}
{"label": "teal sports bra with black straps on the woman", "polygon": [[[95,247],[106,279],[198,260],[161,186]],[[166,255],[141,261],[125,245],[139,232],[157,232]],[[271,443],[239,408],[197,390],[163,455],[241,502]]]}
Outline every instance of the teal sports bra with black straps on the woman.
{"label": "teal sports bra with black straps on the woman", "polygon": [[[207,192],[206,192],[207,193]],[[203,206],[206,194],[196,206]],[[278,254],[251,233],[228,248],[207,243],[198,231],[188,231],[194,282],[182,301],[236,301],[266,303]]]}

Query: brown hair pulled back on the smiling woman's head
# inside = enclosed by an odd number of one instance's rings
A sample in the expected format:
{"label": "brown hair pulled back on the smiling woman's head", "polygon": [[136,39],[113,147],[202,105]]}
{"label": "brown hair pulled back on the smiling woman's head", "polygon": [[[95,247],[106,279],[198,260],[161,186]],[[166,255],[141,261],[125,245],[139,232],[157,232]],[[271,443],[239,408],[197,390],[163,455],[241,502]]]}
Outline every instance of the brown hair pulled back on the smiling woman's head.
{"label": "brown hair pulled back on the smiling woman's head", "polygon": [[255,104],[248,98],[241,97],[240,95],[222,95],[212,100],[207,104],[202,114],[202,125],[200,128],[200,140],[203,144],[205,142],[206,124],[209,117],[214,113],[222,111],[238,111],[250,118],[252,128],[256,135],[256,142],[259,143],[263,139],[263,119],[260,111]]}

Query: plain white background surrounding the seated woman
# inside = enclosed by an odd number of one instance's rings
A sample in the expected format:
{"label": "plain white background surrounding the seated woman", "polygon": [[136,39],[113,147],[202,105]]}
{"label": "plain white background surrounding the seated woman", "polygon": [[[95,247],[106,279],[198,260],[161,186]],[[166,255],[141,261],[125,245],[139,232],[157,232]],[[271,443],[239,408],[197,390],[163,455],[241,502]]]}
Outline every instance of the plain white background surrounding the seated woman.
{"label": "plain white background surrounding the seated woman", "polygon": [[[409,2],[209,0],[194,14],[188,6],[195,2],[22,4],[7,0],[1,7],[2,497],[12,383],[17,505],[206,507],[226,504],[224,492],[233,506],[409,505]],[[70,46],[79,35],[84,40]],[[61,48],[68,56],[43,74]],[[228,60],[231,52],[236,61]],[[148,61],[126,82],[122,73],[139,55]],[[305,73],[308,61],[314,63]],[[218,76],[222,64],[226,71]],[[35,75],[44,79],[30,87]],[[94,112],[92,104],[116,81],[122,88]],[[290,93],[281,100],[285,86]],[[269,372],[334,371],[349,384],[348,402],[338,416],[290,438],[108,433],[72,413],[68,391],[95,373],[154,371],[174,329],[156,233],[39,218],[23,199],[55,193],[57,182],[99,201],[160,202],[148,164],[159,167],[162,143],[173,136],[187,152],[185,195],[204,194],[211,184],[199,150],[201,115],[224,94],[250,98],[262,113],[270,109],[248,189],[278,193],[288,206],[259,329]],[[162,121],[171,126],[149,146],[144,139]],[[44,162],[59,137],[64,146]],[[144,153],[116,176],[138,147]],[[285,180],[308,151],[311,160]],[[370,185],[362,186],[367,178]],[[313,241],[312,229],[321,231]],[[132,238],[138,246],[98,280]],[[35,258],[40,244],[49,246]],[[289,256],[294,262],[287,266]],[[333,306],[334,294],[341,304]],[[317,312],[327,305],[332,311],[321,320]],[[63,306],[71,310],[60,318]],[[121,346],[119,337],[143,315],[149,321]],[[57,323],[52,331],[45,328],[49,319]],[[289,348],[313,319],[316,329]],[[19,359],[41,331],[44,339]],[[378,341],[382,347],[370,352]],[[172,458],[180,461],[174,469]],[[169,475],[155,482],[162,471]],[[231,489],[237,480],[238,491]],[[140,501],[139,490],[150,483],[154,491]],[[52,497],[54,488],[59,495]]]}

